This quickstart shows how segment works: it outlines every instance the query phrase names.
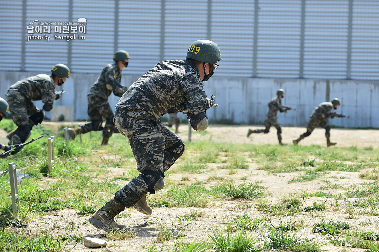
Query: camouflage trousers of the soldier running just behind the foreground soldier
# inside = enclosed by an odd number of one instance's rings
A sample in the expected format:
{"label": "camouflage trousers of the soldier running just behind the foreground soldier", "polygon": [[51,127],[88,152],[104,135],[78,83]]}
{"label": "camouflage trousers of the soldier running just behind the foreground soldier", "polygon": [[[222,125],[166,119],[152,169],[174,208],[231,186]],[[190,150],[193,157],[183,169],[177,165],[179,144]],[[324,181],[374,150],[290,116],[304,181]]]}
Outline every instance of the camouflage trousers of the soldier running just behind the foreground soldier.
{"label": "camouflage trousers of the soldier running just behind the foreground soldier", "polygon": [[97,96],[88,96],[88,116],[91,117],[92,122],[80,126],[81,133],[98,130],[103,123],[103,117],[105,117],[103,138],[110,138],[114,131],[114,124],[113,111],[108,100]]}

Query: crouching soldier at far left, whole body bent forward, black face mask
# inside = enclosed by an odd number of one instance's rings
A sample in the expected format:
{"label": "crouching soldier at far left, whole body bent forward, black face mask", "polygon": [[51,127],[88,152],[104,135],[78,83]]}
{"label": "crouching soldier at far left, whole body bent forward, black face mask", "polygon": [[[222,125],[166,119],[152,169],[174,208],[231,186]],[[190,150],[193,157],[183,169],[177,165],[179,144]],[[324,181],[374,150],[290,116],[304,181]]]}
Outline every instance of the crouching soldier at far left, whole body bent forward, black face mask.
{"label": "crouching soldier at far left, whole body bent forward, black face mask", "polygon": [[[45,111],[53,108],[53,102],[60,98],[55,94],[55,86],[61,86],[66,78],[69,78],[70,69],[64,64],[56,64],[51,69],[52,75],[38,74],[13,84],[6,93],[6,101],[9,103],[9,111],[13,122],[17,125],[16,130],[10,132],[7,138],[9,145],[21,144],[30,136],[33,125],[40,124]],[[42,100],[45,103],[42,110],[37,108],[31,101]]]}

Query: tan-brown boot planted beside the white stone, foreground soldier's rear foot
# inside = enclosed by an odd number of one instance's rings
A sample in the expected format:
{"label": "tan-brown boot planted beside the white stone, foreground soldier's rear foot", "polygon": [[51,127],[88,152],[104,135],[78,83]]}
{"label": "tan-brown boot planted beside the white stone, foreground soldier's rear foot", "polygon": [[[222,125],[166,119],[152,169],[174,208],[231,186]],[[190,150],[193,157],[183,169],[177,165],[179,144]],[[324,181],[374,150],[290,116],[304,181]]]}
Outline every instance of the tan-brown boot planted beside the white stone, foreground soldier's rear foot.
{"label": "tan-brown boot planted beside the white stone, foreground soldier's rear foot", "polygon": [[124,205],[118,203],[114,200],[108,201],[104,207],[97,210],[91,217],[89,217],[88,222],[94,227],[102,229],[106,232],[112,229],[125,229],[126,226],[118,225],[114,221],[114,216],[125,210]]}

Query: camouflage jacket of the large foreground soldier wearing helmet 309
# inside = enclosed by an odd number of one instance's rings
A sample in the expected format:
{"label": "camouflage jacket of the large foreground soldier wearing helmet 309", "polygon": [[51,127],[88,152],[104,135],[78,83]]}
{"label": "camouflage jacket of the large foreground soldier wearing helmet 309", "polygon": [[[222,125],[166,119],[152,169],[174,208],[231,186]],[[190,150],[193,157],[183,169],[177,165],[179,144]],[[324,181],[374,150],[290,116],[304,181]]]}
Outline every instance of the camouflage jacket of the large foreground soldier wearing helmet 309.
{"label": "camouflage jacket of the large foreground soldier wearing helmet 309", "polygon": [[128,88],[116,104],[126,117],[157,121],[164,114],[206,113],[206,95],[199,70],[191,60],[158,63]]}

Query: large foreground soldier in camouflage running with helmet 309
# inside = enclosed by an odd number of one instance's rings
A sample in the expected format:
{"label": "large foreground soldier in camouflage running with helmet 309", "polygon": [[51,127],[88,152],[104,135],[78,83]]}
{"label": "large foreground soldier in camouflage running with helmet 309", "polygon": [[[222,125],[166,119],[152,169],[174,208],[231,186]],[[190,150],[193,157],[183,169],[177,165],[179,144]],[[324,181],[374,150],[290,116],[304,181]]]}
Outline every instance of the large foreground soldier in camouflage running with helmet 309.
{"label": "large foreground soldier in camouflage running with helmet 309", "polygon": [[206,110],[211,103],[202,81],[213,75],[221,59],[220,49],[214,42],[195,41],[188,49],[186,60],[158,63],[121,97],[114,121],[122,135],[129,139],[141,174],[89,218],[92,225],[104,230],[125,227],[114,222],[114,216],[125,207],[135,206],[144,214],[152,213],[146,194],[163,188],[164,172],[184,152],[182,139],[158,119],[166,113],[182,111],[188,114],[195,130],[205,130],[208,127]]}

